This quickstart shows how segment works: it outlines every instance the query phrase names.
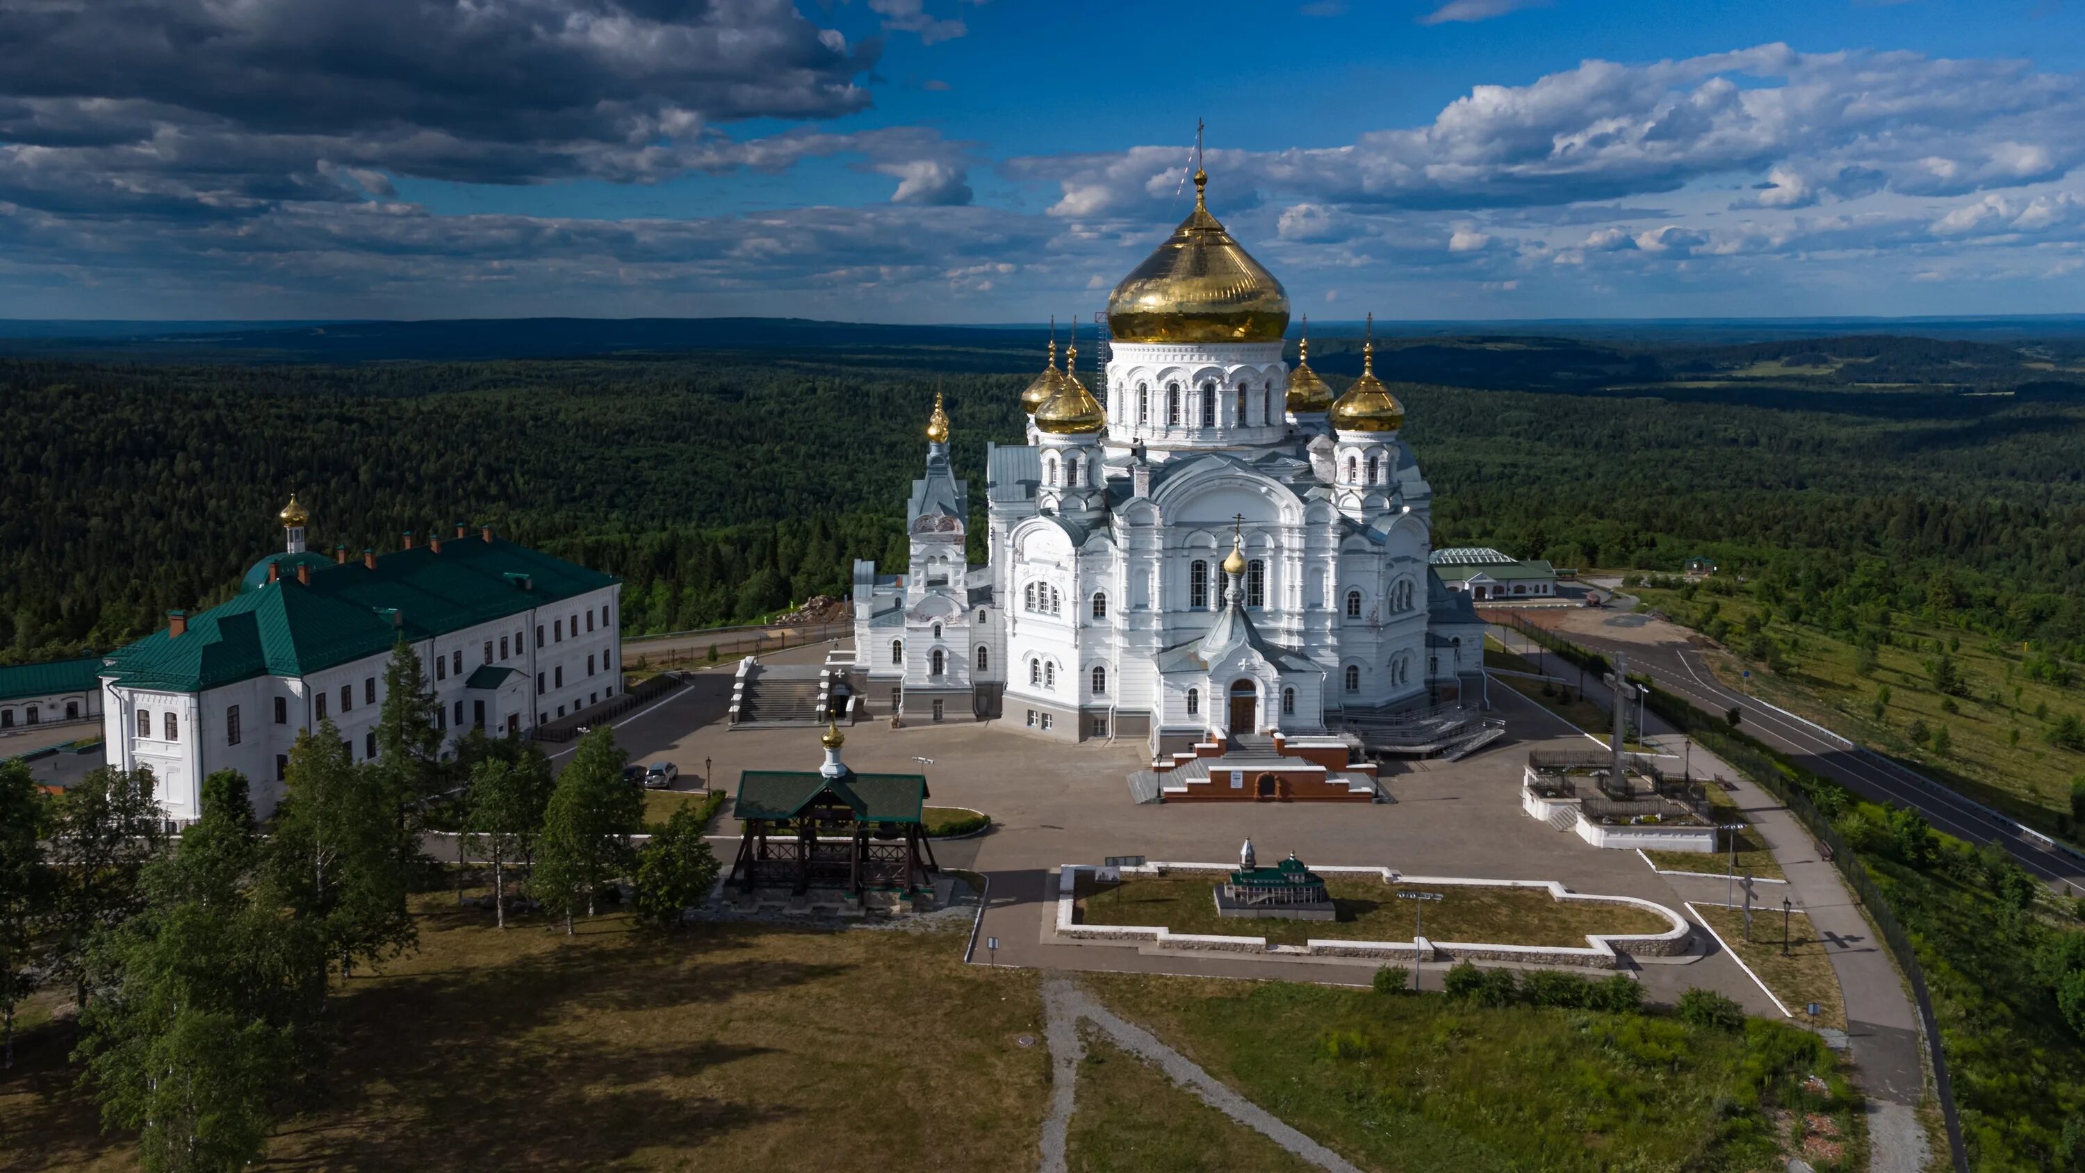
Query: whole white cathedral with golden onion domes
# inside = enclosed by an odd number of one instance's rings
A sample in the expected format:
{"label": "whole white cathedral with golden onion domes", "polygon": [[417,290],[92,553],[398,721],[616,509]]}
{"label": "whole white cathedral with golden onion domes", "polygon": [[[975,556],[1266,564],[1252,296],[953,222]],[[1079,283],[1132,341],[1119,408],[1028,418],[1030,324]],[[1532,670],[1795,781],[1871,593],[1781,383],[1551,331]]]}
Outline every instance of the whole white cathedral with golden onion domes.
{"label": "whole white cathedral with golden onion domes", "polygon": [[1195,210],[1109,296],[1105,406],[1076,338],[986,458],[988,560],[936,396],[903,575],[855,563],[869,710],[1045,738],[1322,733],[1482,702],[1482,621],[1428,569],[1432,490],[1374,373],[1336,400],[1282,358],[1289,294]]}

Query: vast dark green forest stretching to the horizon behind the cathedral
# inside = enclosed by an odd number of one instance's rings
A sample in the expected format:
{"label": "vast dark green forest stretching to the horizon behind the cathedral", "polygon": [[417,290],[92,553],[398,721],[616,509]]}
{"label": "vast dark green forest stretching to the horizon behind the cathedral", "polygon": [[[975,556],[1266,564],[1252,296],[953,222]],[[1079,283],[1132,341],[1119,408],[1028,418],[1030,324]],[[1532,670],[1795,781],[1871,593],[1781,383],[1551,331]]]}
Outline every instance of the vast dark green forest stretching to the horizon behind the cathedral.
{"label": "vast dark green forest stretching to the horizon behind the cathedral", "polygon": [[[1856,629],[1922,610],[2085,656],[2075,342],[1389,340],[1437,544],[1770,575]],[[1314,342],[1334,388],[1357,340]],[[1093,383],[1090,354],[1082,354]],[[111,648],[231,594],[292,490],[321,548],[490,523],[621,575],[630,633],[901,560],[936,390],[982,506],[1040,352],[792,346],[348,365],[0,358],[0,656]],[[2077,379],[2077,381],[2072,381]],[[982,529],[982,525],[978,525]],[[980,556],[982,552],[974,552]]]}

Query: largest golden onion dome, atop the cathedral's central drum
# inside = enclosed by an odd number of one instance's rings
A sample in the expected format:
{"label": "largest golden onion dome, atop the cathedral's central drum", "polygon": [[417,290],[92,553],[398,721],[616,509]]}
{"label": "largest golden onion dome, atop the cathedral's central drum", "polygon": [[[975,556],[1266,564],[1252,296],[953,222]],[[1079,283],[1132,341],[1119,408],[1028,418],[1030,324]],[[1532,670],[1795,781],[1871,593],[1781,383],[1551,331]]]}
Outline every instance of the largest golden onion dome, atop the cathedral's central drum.
{"label": "largest golden onion dome, atop the cathedral's central drum", "polygon": [[1280,342],[1289,292],[1209,215],[1195,171],[1195,210],[1107,298],[1115,342]]}

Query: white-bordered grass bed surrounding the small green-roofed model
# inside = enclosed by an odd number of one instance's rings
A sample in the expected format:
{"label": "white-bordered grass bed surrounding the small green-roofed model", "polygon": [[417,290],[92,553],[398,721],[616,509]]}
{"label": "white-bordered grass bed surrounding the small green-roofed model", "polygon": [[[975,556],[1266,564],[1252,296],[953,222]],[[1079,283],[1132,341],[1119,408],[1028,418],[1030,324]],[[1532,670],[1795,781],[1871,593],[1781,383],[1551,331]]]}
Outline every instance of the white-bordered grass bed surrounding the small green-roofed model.
{"label": "white-bordered grass bed surrounding the small green-roofed model", "polygon": [[[1336,921],[1232,919],[1216,915],[1220,873],[1159,875],[1090,885],[1080,875],[1080,921],[1086,925],[1163,925],[1176,933],[1266,938],[1303,944],[1311,938],[1409,942],[1420,904],[1399,900],[1403,885],[1364,877],[1326,877]],[[1090,885],[1090,888],[1088,888]],[[1426,890],[1434,892],[1434,890]],[[1530,888],[1439,888],[1445,900],[1426,900],[1428,940],[1512,946],[1576,946],[1587,933],[1662,933],[1664,917],[1635,904],[1557,902]]]}

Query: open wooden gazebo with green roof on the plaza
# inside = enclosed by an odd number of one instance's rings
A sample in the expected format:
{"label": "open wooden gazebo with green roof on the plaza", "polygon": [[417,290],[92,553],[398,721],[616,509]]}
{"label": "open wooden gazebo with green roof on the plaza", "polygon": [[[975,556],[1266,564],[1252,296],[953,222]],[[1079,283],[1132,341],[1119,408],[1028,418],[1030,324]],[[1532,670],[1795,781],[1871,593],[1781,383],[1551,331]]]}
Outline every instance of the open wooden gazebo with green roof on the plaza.
{"label": "open wooden gazebo with green roof on the plaza", "polygon": [[811,888],[844,888],[855,898],[928,892],[940,865],[919,819],[926,798],[917,773],[744,771],[732,806],[744,835],[730,883],[799,896]]}

